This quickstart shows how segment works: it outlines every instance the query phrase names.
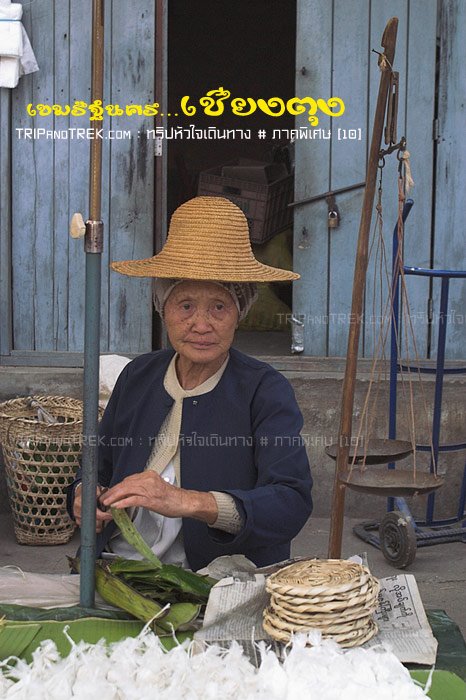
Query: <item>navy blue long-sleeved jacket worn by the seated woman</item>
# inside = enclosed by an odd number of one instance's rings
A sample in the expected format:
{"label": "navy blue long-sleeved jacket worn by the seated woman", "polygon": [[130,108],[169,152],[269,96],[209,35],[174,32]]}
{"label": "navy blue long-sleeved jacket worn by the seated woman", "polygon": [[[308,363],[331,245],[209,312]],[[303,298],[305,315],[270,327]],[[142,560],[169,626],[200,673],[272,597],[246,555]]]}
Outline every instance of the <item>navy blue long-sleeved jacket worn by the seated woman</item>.
{"label": "navy blue long-sleeved jacket worn by the seated woman", "polygon": [[[140,355],[118,377],[99,428],[102,486],[144,469],[173,404],[163,386],[172,356],[173,350]],[[193,570],[225,554],[244,554],[258,566],[289,557],[291,539],[312,511],[302,424],[288,380],[233,348],[217,386],[183,400],[181,486],[229,493],[244,516],[237,535],[183,518]],[[98,535],[97,555],[113,530],[110,523]]]}

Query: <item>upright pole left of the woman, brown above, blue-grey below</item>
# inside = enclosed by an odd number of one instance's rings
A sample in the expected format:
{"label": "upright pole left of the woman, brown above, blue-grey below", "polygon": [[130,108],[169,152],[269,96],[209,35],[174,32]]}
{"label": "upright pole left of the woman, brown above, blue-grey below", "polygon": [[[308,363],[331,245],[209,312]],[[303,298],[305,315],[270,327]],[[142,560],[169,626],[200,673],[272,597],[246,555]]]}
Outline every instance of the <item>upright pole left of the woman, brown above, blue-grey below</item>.
{"label": "upright pole left of the woman, brown above, blue-grey below", "polygon": [[[92,85],[91,101],[103,100],[104,0],[92,0]],[[96,125],[90,122],[95,134]],[[89,219],[86,221],[86,293],[84,323],[84,444],[82,452],[82,519],[80,602],[95,604],[95,527],[97,489],[97,431],[99,412],[100,287],[103,248],[101,221],[102,140],[91,139]]]}

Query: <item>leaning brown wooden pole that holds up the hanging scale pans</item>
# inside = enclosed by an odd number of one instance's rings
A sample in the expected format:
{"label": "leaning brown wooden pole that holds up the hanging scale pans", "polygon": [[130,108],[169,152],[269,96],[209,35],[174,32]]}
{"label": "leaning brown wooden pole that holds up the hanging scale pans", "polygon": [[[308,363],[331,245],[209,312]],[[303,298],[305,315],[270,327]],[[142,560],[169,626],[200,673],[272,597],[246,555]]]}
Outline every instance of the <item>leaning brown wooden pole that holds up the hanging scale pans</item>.
{"label": "leaning brown wooden pole that holds up the hanging scale pans", "polygon": [[361,317],[363,313],[364,289],[366,286],[367,258],[369,247],[369,234],[374,206],[374,195],[377,178],[377,166],[379,152],[382,143],[382,132],[385,122],[385,109],[390,86],[390,72],[395,58],[396,34],[398,29],[397,17],[388,20],[382,36],[384,56],[388,65],[383,66],[380,76],[379,94],[374,117],[372,141],[367,164],[366,189],[359,224],[358,247],[353,278],[353,298],[351,302],[351,318],[348,334],[348,350],[346,354],[345,377],[343,380],[343,394],[341,401],[340,430],[337,447],[337,461],[335,468],[335,481],[333,486],[332,520],[330,525],[330,538],[328,556],[330,559],[339,559],[341,556],[341,541],[343,536],[343,518],[345,510],[345,485],[340,475],[348,470],[349,451],[351,444],[351,432],[353,423],[354,390],[356,385],[356,371],[358,363],[359,335]]}

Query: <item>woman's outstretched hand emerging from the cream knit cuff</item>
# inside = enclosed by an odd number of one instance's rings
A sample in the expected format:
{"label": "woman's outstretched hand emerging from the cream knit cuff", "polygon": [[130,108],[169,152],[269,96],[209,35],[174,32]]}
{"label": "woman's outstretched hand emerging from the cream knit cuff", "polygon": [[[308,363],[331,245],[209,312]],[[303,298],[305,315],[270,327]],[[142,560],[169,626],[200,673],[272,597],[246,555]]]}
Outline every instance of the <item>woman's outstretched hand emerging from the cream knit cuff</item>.
{"label": "woman's outstretched hand emerging from the cream knit cuff", "polygon": [[136,506],[168,518],[196,518],[209,525],[218,516],[217,502],[211,493],[173,486],[153,471],[127,476],[106,491],[100,502],[106,508]]}

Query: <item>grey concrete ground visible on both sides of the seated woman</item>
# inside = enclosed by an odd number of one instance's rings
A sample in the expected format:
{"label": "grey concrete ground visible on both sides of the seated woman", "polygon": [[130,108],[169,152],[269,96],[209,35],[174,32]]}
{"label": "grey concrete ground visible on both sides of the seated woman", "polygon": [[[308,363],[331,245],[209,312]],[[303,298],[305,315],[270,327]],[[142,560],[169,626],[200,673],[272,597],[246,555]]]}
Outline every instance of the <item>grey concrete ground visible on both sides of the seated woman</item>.
{"label": "grey concrete ground visible on both sides of the seated woman", "polygon": [[[358,520],[346,519],[343,557],[366,551],[372,573],[378,577],[396,572],[382,553],[365,544],[352,533]],[[293,543],[293,555],[327,556],[330,521],[311,518]],[[9,514],[0,514],[0,566],[15,565],[25,571],[67,573],[66,555],[74,555],[79,535],[66,544],[55,547],[18,545]],[[405,570],[414,574],[425,608],[440,608],[455,620],[466,638],[466,546],[451,543],[418,550],[411,566]]]}

